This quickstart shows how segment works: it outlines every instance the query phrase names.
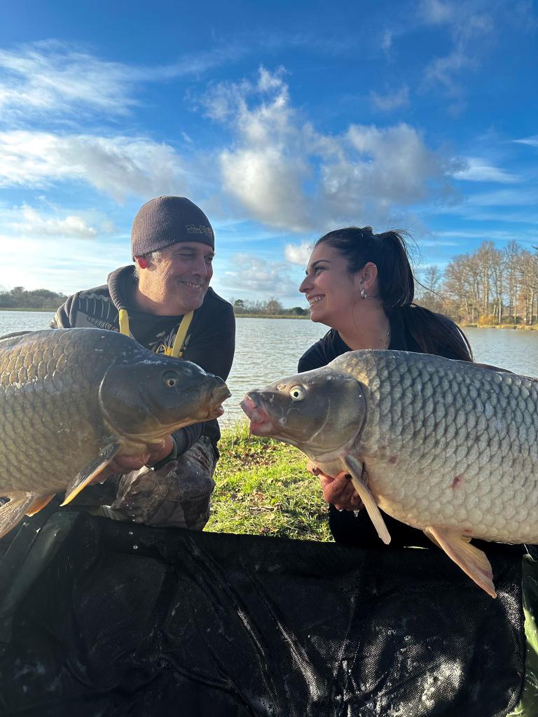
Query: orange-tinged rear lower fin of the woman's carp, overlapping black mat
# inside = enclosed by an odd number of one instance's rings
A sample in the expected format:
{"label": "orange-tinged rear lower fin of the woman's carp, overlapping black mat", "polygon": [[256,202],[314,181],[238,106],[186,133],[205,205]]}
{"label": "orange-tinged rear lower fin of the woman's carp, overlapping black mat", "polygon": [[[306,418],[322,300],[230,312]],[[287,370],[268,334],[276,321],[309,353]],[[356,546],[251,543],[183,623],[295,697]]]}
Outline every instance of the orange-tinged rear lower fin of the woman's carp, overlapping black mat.
{"label": "orange-tinged rear lower fin of the woman's carp, overlapping black mat", "polygon": [[424,532],[428,538],[433,538],[433,542],[437,543],[448,557],[456,565],[459,565],[471,580],[476,582],[478,587],[485,590],[491,597],[497,597],[491,564],[483,551],[469,543],[471,538],[462,536],[458,531],[435,528],[435,526],[424,528]]}

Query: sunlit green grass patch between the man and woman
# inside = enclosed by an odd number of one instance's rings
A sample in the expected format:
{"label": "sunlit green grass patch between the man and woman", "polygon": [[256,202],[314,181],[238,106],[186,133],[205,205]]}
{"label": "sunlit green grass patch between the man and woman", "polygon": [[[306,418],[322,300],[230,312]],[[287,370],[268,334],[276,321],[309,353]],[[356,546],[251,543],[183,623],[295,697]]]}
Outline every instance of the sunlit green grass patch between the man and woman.
{"label": "sunlit green grass patch between the man and woman", "polygon": [[214,533],[250,533],[332,541],[327,508],[306,456],[271,438],[248,434],[240,423],[222,432],[214,480]]}

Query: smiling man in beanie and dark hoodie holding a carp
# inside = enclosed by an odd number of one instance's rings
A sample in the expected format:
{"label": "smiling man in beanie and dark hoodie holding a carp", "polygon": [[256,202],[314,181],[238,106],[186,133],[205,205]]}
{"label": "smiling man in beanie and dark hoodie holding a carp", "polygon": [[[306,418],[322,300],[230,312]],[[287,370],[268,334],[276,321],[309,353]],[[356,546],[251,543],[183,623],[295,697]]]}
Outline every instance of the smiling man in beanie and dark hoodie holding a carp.
{"label": "smiling man in beanie and dark hoodie holding a carp", "polygon": [[[226,380],[235,319],[232,305],[209,288],[214,234],[202,209],[183,196],[151,199],[133,221],[131,251],[134,266],[70,296],[51,327],[121,331]],[[86,488],[78,503],[111,503],[93,512],[118,520],[201,530],[209,519],[219,438],[212,420],[179,429],[144,455],[118,457],[109,468],[113,478]]]}

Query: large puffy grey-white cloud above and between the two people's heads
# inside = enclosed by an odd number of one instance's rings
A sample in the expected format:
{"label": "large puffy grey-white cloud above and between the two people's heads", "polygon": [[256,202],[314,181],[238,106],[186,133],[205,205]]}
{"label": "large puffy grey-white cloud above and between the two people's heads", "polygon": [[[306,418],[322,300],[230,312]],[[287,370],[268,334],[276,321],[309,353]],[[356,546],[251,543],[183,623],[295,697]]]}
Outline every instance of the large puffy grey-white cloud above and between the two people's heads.
{"label": "large puffy grey-white cloud above and between the two people's heads", "polygon": [[218,85],[204,101],[235,139],[220,155],[225,191],[273,227],[386,224],[447,189],[450,161],[417,130],[349,125],[338,136],[318,133],[293,108],[281,71],[262,68],[257,83]]}

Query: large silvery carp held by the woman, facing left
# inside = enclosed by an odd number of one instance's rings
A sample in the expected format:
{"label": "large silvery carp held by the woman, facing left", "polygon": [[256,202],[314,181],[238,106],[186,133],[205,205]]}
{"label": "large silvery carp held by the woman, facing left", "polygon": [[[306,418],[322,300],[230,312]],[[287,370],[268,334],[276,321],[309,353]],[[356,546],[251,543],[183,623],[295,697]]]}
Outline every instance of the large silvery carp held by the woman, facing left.
{"label": "large silvery carp held by the woman, facing left", "polygon": [[538,543],[538,381],[406,351],[350,351],[250,391],[250,431],[291,443],[327,475],[351,474],[379,508],[422,529],[496,596],[470,538]]}

